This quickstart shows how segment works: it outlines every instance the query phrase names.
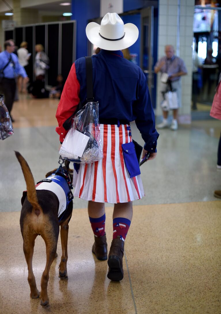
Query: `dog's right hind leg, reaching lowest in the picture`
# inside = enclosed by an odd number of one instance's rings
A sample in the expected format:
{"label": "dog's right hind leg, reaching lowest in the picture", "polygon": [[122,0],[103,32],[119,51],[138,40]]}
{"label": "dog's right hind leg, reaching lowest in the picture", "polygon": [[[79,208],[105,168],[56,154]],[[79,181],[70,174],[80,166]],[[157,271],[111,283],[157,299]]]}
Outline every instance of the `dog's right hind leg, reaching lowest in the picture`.
{"label": "dog's right hind leg, reaching lowest in the picture", "polygon": [[40,305],[44,307],[49,306],[49,299],[47,293],[49,270],[56,255],[58,235],[59,226],[56,227],[56,230],[53,230],[51,228],[51,230],[47,230],[46,233],[41,235],[46,244],[46,257],[47,257],[46,266],[41,277],[41,293],[40,293],[41,298]]}

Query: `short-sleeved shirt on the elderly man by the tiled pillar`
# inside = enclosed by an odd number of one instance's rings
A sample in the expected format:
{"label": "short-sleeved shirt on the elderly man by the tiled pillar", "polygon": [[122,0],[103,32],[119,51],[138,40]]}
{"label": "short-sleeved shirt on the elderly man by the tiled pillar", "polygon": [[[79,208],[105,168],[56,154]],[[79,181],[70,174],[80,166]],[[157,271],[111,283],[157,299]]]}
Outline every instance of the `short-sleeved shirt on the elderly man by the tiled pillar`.
{"label": "short-sleeved shirt on the elderly man by the tiled pillar", "polygon": [[[169,76],[178,72],[187,73],[186,65],[180,57],[173,56],[172,58],[162,57],[157,61],[155,67],[158,67],[161,62],[165,62],[162,68],[160,69],[161,73],[167,73]],[[171,78],[171,81],[176,81],[180,79],[180,76]]]}

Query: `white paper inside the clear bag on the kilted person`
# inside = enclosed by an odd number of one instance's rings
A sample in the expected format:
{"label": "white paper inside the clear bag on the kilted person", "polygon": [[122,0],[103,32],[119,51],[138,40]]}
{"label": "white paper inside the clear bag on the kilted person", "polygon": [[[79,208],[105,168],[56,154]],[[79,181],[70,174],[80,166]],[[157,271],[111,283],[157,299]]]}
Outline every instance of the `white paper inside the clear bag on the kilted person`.
{"label": "white paper inside the clear bag on the kilted person", "polygon": [[[68,137],[70,138],[68,139]],[[65,137],[61,149],[71,155],[82,157],[88,141],[89,136],[76,129],[71,129],[71,132]]]}

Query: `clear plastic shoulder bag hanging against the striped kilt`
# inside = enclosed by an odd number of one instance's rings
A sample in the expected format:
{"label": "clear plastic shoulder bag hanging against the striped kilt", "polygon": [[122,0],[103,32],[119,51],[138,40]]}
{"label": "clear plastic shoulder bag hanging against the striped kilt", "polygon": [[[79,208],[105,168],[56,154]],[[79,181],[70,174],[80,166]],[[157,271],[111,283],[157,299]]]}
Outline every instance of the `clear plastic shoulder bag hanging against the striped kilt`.
{"label": "clear plastic shoulder bag hanging against the striped kilt", "polygon": [[102,159],[98,102],[88,102],[72,120],[72,127],[59,151],[62,158],[83,164]]}

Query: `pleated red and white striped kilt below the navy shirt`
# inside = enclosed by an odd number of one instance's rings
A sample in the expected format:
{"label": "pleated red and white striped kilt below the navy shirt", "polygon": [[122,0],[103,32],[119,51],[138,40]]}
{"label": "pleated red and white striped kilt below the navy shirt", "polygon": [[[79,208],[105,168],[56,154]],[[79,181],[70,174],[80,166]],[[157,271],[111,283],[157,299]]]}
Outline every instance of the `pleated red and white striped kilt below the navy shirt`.
{"label": "pleated red and white striped kilt below the navy shirt", "polygon": [[104,158],[92,164],[81,164],[73,180],[74,196],[101,203],[126,203],[144,196],[140,175],[130,178],[121,144],[132,137],[128,125],[100,124]]}

